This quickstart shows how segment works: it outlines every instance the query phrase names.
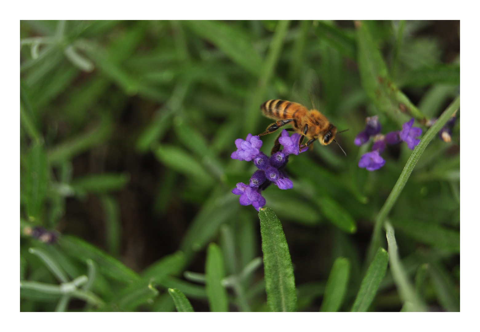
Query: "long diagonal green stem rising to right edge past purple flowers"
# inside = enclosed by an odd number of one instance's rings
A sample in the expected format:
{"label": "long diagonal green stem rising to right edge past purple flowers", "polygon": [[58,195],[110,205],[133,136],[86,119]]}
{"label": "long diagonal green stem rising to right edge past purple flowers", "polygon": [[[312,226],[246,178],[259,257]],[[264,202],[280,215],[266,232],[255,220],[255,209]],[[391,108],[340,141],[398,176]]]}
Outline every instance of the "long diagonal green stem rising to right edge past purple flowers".
{"label": "long diagonal green stem rising to right edge past purple flowers", "polygon": [[407,183],[407,180],[410,177],[413,168],[417,164],[420,155],[423,153],[428,143],[432,141],[433,137],[437,135],[438,131],[455,113],[458,107],[460,107],[460,96],[457,96],[455,98],[455,100],[444,110],[440,118],[432,125],[432,127],[425,133],[425,135],[423,135],[420,143],[415,147],[412,154],[410,155],[410,158],[408,158],[407,164],[403,168],[400,177],[396,181],[396,184],[390,192],[390,195],[388,195],[388,198],[382,206],[382,209],[375,218],[375,226],[373,228],[372,240],[370,242],[370,247],[367,253],[367,260],[365,262],[366,266],[368,266],[372,262],[375,253],[377,252],[378,248],[380,248],[380,232],[382,230],[384,219],[392,210],[396,200],[398,199],[398,196],[403,190],[403,187],[405,187],[405,184]]}

